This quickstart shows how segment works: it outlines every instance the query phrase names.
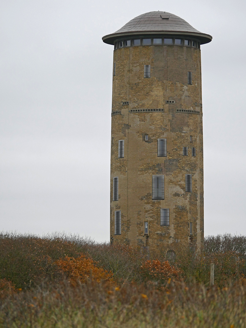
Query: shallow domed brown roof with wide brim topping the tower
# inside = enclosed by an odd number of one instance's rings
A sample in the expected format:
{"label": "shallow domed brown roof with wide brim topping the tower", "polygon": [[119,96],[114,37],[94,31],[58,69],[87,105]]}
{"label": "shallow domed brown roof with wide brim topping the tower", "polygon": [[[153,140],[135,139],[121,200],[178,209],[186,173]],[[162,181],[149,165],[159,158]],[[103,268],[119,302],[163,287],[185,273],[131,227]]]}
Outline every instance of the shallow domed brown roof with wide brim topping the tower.
{"label": "shallow domed brown roof with wide brim topping the tower", "polygon": [[212,40],[211,35],[199,32],[179,16],[165,11],[150,11],[133,18],[120,30],[105,35],[103,41],[108,44],[114,44],[115,39],[123,36],[151,34],[193,36],[199,39],[201,44]]}

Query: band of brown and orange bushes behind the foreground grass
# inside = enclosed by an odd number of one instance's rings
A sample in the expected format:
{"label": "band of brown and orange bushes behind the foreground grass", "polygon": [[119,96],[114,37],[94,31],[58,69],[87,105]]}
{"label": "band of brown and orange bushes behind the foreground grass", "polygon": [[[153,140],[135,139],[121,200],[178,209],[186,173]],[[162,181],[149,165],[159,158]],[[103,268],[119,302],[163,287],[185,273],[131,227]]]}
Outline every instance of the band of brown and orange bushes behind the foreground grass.
{"label": "band of brown and orange bushes behind the foreground grass", "polygon": [[[11,282],[15,288],[30,288],[46,281],[56,283],[64,277],[85,281],[109,279],[121,283],[134,280],[163,281],[195,279],[209,285],[210,263],[215,263],[215,284],[223,286],[246,275],[246,237],[209,236],[205,238],[204,252],[174,244],[175,262],[167,262],[166,250],[152,251],[151,261],[141,257],[139,247],[98,244],[79,236],[0,234],[0,279]],[[231,249],[230,249],[231,247]],[[100,271],[101,270],[101,271]],[[3,280],[4,279],[4,280]]]}

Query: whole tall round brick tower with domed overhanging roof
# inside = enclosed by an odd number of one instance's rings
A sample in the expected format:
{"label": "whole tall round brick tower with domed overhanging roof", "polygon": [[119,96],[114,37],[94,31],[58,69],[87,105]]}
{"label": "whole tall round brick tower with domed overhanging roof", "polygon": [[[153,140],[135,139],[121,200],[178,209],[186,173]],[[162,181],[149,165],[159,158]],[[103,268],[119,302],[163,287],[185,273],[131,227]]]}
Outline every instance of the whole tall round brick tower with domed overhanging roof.
{"label": "whole tall round brick tower with domed overhanging roof", "polygon": [[111,242],[202,247],[200,45],[211,40],[163,11],[103,37],[114,45]]}

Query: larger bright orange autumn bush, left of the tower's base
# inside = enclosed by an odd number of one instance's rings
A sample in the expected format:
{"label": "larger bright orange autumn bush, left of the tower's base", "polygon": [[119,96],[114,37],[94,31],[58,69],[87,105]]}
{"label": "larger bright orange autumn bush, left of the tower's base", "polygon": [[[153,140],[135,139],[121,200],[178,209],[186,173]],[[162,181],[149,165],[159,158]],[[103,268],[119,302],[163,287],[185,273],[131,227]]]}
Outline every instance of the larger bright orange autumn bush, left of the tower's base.
{"label": "larger bright orange autumn bush, left of the tower's base", "polygon": [[113,277],[111,272],[98,268],[96,262],[85,255],[77,258],[65,256],[64,259],[55,261],[55,264],[73,282],[80,280],[84,283],[88,278],[100,282],[101,280],[112,280]]}

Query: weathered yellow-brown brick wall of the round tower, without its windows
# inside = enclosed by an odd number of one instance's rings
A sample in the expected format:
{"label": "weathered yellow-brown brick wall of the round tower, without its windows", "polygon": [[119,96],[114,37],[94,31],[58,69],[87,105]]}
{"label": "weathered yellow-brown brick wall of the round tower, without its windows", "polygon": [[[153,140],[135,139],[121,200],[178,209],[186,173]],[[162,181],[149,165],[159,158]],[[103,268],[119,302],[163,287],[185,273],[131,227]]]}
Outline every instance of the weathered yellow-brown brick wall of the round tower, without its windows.
{"label": "weathered yellow-brown brick wall of the round tower, without its windows", "polygon": [[[111,140],[111,241],[142,246],[174,242],[202,247],[203,141],[201,62],[198,48],[162,45],[114,50]],[[144,65],[151,77],[144,78]],[[192,85],[187,74],[192,72]],[[175,100],[167,104],[166,100]],[[123,106],[123,102],[129,105]],[[130,113],[132,109],[164,112]],[[176,113],[176,109],[200,114]],[[148,134],[148,141],[144,135]],[[192,135],[192,142],[190,136]],[[167,139],[167,156],[157,156],[157,139]],[[118,158],[124,140],[124,158]],[[188,156],[183,156],[188,147]],[[196,156],[192,156],[192,147]],[[165,199],[152,199],[152,175],[164,175]],[[192,174],[192,192],[185,191],[185,174]],[[113,177],[119,177],[119,200],[113,201]],[[170,225],[160,225],[160,209],[170,209]],[[114,212],[121,210],[121,235],[114,235]],[[149,236],[144,236],[144,221]],[[193,235],[189,225],[193,223]],[[169,246],[168,246],[169,247]],[[171,246],[170,246],[171,247]]]}

